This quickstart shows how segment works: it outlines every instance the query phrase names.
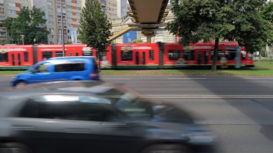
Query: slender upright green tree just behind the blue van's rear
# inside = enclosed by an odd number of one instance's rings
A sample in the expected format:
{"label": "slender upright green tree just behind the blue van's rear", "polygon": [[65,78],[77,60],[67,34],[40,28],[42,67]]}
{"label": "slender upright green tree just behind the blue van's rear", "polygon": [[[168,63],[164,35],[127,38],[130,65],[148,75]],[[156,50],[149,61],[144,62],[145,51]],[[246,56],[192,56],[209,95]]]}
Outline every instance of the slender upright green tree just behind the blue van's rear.
{"label": "slender upright green tree just behind the blue van's rear", "polygon": [[80,14],[79,40],[87,44],[87,47],[96,49],[99,60],[99,52],[106,52],[112,36],[110,29],[112,24],[107,20],[98,0],[86,0],[85,7]]}

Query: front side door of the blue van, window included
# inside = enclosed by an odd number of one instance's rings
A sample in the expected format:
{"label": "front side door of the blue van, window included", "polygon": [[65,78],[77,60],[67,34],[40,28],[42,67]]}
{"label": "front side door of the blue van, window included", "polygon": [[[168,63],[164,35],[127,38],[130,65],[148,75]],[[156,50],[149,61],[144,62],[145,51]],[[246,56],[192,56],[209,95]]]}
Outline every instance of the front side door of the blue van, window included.
{"label": "front side door of the blue van, window included", "polygon": [[40,83],[54,81],[54,76],[51,74],[52,64],[44,62],[33,67],[32,73],[28,76],[29,83]]}

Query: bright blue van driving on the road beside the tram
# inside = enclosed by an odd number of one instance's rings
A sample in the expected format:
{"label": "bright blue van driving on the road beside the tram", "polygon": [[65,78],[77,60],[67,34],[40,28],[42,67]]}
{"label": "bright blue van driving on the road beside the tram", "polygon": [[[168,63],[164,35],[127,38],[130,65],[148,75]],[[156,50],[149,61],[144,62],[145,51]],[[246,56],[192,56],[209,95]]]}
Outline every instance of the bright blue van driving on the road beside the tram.
{"label": "bright blue van driving on the road beside the tram", "polygon": [[67,80],[99,80],[95,56],[53,57],[16,75],[11,86]]}

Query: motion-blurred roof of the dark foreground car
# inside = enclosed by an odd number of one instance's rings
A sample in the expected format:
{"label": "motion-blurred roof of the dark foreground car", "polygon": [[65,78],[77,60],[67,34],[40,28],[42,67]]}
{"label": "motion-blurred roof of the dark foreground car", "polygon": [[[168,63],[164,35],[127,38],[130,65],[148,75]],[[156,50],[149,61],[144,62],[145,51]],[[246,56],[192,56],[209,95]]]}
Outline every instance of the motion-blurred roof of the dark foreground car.
{"label": "motion-blurred roof of the dark foreground car", "polygon": [[30,84],[22,88],[10,88],[0,94],[6,96],[23,96],[34,94],[91,94],[101,95],[110,90],[119,90],[121,92],[130,92],[138,95],[132,89],[124,87],[122,84],[114,84],[103,81],[60,81],[41,84]]}

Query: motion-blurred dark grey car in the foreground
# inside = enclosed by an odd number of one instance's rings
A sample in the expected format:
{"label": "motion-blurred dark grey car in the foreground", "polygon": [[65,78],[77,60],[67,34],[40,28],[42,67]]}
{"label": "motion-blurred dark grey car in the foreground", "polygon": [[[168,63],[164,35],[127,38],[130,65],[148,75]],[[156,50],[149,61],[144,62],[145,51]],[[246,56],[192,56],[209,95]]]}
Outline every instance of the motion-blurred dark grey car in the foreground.
{"label": "motion-blurred dark grey car in the foreground", "polygon": [[212,153],[214,139],[181,109],[118,84],[56,82],[0,96],[0,153]]}

